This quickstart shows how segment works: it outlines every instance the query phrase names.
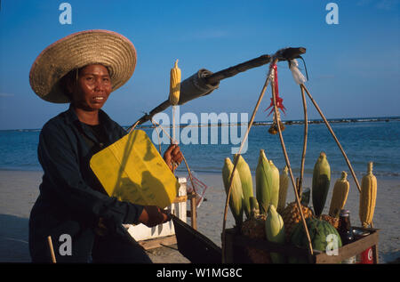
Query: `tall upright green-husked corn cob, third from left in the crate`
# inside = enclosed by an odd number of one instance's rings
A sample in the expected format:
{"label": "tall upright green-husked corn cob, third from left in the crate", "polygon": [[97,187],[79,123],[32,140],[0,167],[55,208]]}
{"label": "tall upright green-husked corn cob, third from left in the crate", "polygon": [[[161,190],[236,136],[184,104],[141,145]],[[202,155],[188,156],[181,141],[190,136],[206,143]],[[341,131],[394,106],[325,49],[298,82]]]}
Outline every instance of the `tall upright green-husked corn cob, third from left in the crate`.
{"label": "tall upright green-husked corn cob, third from left in the crate", "polygon": [[268,206],[271,202],[271,184],[271,168],[265,156],[265,151],[260,149],[259,164],[256,168],[256,198],[260,205],[260,214],[267,214]]}

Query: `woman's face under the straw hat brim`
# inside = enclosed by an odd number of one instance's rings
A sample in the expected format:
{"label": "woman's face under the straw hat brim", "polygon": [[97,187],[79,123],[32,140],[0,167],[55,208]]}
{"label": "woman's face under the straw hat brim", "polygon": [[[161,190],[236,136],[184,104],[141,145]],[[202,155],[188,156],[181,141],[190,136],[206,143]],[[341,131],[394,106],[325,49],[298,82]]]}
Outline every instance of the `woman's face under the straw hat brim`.
{"label": "woman's face under the straw hat brim", "polygon": [[102,65],[88,65],[79,71],[73,87],[72,103],[86,111],[99,110],[112,91],[108,69]]}

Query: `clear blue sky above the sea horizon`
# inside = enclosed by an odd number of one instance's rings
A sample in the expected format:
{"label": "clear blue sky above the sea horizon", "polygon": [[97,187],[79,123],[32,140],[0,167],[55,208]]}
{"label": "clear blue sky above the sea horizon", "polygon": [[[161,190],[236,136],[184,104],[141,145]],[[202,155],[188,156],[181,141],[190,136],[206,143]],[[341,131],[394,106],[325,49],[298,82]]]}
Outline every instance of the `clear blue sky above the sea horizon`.
{"label": "clear blue sky above the sea horizon", "polygon": [[[72,6],[61,25],[59,6]],[[326,4],[339,7],[328,25]],[[104,109],[121,125],[166,100],[169,71],[180,60],[182,78],[199,68],[218,71],[286,46],[307,48],[311,94],[328,118],[400,116],[399,0],[354,1],[90,1],[3,0],[0,11],[0,129],[41,128],[68,105],[42,101],[30,88],[29,69],[49,44],[85,29],[109,29],[132,40],[138,63],[131,80]],[[300,62],[300,67],[302,63]],[[278,64],[284,119],[302,118],[300,88],[287,63]],[[268,67],[221,81],[211,95],[180,113],[252,113]],[[270,90],[256,120],[270,120]],[[318,118],[308,102],[309,117]],[[167,109],[171,113],[171,109]]]}

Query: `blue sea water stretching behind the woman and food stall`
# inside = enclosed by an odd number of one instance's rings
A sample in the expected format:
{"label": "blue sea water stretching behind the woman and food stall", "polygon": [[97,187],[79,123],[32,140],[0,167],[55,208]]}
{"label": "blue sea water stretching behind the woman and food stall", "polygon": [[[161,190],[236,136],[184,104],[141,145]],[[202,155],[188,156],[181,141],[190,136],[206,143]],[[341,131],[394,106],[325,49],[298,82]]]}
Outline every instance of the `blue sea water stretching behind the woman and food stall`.
{"label": "blue sea water stretching behind the woman and food stall", "polygon": [[[396,178],[400,180],[400,117],[384,118],[352,118],[335,122],[332,120],[333,132],[338,137],[345,150],[357,177],[366,173],[367,164],[373,162],[373,173],[377,177]],[[300,158],[303,146],[304,125],[300,121],[285,125],[283,132],[284,143],[288,152],[292,171],[295,175],[300,172]],[[208,136],[201,141],[204,128],[190,128],[189,136],[196,136],[198,141],[188,143],[180,142],[188,166],[196,173],[220,173],[225,157],[232,157],[232,148],[238,148],[240,144],[224,140],[222,133],[230,134],[235,126],[209,126],[205,131]],[[216,130],[217,128],[217,130]],[[268,159],[282,169],[285,165],[283,150],[279,136],[268,133],[269,125],[252,126],[249,134],[247,149],[243,154],[244,159],[250,165],[252,173],[258,163],[260,149],[265,149]],[[157,143],[156,132],[153,128],[144,127],[150,138]],[[187,128],[189,129],[189,128]],[[182,130],[182,128],[180,128]],[[214,132],[212,132],[214,130]],[[215,131],[216,130],[216,131]],[[240,130],[238,137],[240,136]],[[37,160],[37,143],[40,129],[7,130],[0,131],[0,169],[41,171]],[[180,133],[183,133],[182,131]],[[188,132],[187,132],[188,133]],[[218,133],[218,135],[216,135]],[[195,135],[193,135],[195,134]],[[161,135],[162,137],[162,135]],[[204,137],[204,136],[203,136]],[[188,143],[188,144],[187,144]],[[167,148],[162,144],[161,149]],[[158,149],[158,145],[156,144]],[[319,153],[324,151],[331,165],[332,174],[339,175],[341,171],[348,174],[348,165],[342,157],[340,149],[333,140],[331,133],[318,120],[308,125],[308,148],[305,161],[305,173],[311,175]],[[186,166],[180,165],[177,173],[186,173]]]}

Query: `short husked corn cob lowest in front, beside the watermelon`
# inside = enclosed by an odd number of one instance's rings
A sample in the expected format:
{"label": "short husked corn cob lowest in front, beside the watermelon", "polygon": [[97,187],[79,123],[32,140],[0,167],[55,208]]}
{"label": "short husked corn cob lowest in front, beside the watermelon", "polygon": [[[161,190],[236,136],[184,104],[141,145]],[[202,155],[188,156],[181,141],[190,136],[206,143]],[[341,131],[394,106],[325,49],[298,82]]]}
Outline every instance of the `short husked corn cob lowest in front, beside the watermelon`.
{"label": "short husked corn cob lowest in front, beside the watermelon", "polygon": [[[281,215],[276,213],[275,205],[269,205],[268,207],[265,232],[269,242],[284,244],[284,221]],[[273,263],[284,263],[282,254],[271,253],[270,256]]]}

